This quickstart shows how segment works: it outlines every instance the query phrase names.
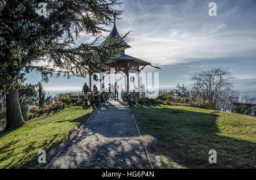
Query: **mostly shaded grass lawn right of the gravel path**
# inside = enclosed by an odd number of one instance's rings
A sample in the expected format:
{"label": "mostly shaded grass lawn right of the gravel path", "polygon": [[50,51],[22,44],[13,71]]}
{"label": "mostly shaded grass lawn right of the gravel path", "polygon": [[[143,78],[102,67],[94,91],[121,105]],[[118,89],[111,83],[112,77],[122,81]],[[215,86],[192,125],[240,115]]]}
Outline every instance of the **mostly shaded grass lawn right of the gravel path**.
{"label": "mostly shaded grass lawn right of the gravel path", "polygon": [[[132,108],[163,168],[256,168],[256,117],[170,105]],[[208,152],[215,149],[217,163]]]}

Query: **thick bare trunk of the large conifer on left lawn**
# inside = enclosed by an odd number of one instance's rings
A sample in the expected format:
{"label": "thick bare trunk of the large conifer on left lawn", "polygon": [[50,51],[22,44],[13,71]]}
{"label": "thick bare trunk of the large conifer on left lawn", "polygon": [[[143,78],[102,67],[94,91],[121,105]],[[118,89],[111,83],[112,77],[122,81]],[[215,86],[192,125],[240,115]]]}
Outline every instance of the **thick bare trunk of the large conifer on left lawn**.
{"label": "thick bare trunk of the large conifer on left lawn", "polygon": [[26,123],[20,110],[18,89],[10,89],[6,95],[6,120],[5,130],[21,127]]}

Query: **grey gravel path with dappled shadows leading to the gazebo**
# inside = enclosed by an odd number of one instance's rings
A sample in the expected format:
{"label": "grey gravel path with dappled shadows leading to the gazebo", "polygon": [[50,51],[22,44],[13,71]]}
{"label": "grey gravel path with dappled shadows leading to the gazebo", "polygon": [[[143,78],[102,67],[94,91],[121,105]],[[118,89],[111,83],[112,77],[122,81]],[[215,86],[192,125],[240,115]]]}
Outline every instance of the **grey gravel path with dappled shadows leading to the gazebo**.
{"label": "grey gravel path with dappled shadows leading to the gazebo", "polygon": [[49,168],[151,168],[131,110],[102,105]]}

